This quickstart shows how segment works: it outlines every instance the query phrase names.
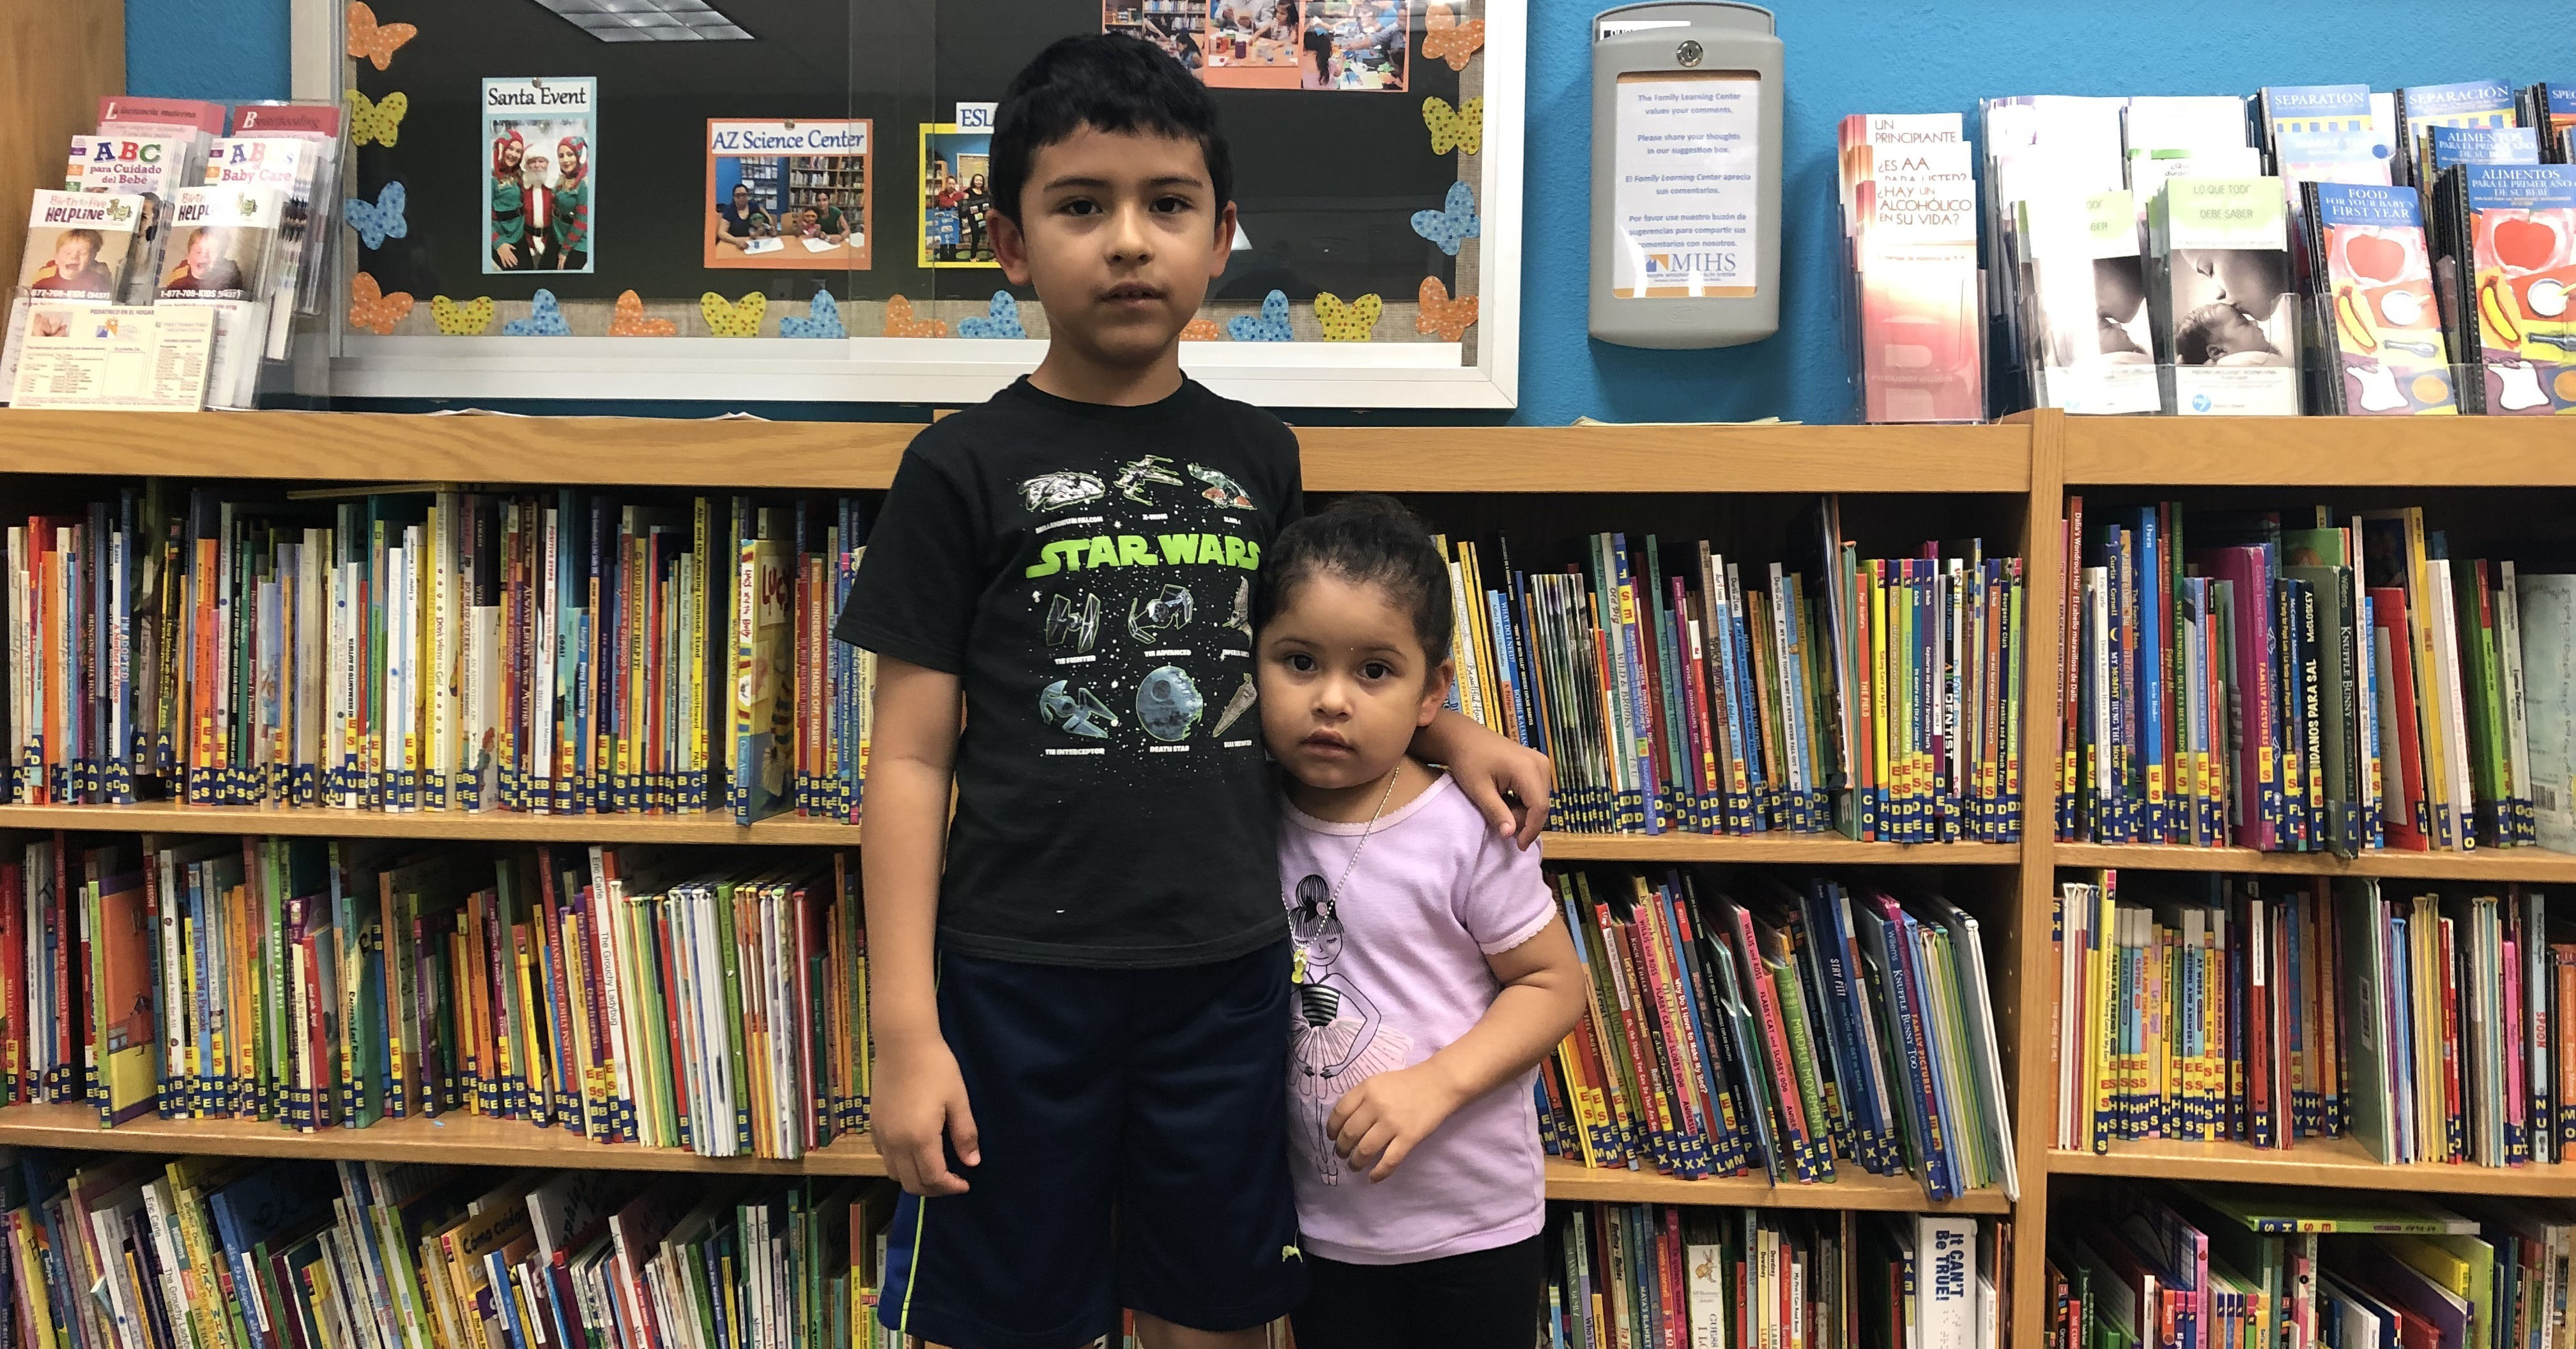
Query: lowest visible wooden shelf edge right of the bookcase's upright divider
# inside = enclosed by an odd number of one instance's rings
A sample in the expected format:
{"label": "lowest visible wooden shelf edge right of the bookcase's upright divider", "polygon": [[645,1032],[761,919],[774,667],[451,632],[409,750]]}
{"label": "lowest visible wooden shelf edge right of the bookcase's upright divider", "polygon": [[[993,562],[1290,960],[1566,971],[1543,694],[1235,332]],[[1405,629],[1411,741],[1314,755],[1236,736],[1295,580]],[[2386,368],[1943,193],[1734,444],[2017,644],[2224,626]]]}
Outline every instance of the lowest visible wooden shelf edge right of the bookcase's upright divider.
{"label": "lowest visible wooden shelf edge right of the bookcase's upright divider", "polygon": [[2228,1184],[2313,1184],[2334,1189],[2406,1189],[2416,1195],[2576,1197],[2576,1164],[2450,1166],[2416,1161],[2383,1166],[2354,1138],[2306,1138],[2295,1148],[2251,1143],[2115,1143],[2107,1153],[2050,1151],[2058,1177],[2125,1177]]}

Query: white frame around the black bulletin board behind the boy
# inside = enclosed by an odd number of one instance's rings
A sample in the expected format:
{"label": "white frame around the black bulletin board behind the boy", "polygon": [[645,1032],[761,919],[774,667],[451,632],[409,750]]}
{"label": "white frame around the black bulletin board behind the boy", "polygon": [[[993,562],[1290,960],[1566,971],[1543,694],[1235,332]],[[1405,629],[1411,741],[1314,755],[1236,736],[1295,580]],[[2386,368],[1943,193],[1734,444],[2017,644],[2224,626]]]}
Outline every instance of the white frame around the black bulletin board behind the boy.
{"label": "white frame around the black bulletin board behind the boy", "polygon": [[[1528,90],[1528,0],[1476,0],[1484,49],[1471,85],[1484,95],[1476,175],[1476,296],[1466,342],[1185,342],[1182,368],[1218,394],[1260,407],[1510,409],[1520,402],[1520,224]],[[296,98],[340,100],[348,82],[345,5],[294,0]],[[1417,15],[1419,23],[1419,15]],[[1419,44],[1419,33],[1414,36]],[[1419,57],[1417,57],[1419,59]],[[1363,95],[1329,95],[1363,98]],[[1406,95],[1383,95],[1406,98]],[[1422,206],[1437,209],[1437,201]],[[343,234],[335,227],[335,234]],[[355,247],[332,252],[332,296],[348,296]],[[1388,301],[1412,296],[1386,296]],[[379,337],[327,306],[322,342],[304,348],[299,394],[332,399],[582,399],[636,402],[884,402],[961,407],[1036,368],[1041,340],[961,337]]]}

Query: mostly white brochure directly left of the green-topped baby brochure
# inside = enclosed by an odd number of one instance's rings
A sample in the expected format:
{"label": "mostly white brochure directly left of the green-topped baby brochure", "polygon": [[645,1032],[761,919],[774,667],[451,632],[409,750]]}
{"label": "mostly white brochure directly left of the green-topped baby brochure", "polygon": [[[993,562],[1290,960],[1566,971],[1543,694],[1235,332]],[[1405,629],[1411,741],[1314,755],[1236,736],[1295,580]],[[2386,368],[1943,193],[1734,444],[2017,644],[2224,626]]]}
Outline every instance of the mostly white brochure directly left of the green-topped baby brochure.
{"label": "mostly white brochure directly left of the green-topped baby brochure", "polygon": [[2017,234],[2030,273],[2025,293],[2038,306],[2022,324],[2038,342],[2032,402],[2074,414],[2156,412],[2164,396],[2128,193],[2022,198]]}

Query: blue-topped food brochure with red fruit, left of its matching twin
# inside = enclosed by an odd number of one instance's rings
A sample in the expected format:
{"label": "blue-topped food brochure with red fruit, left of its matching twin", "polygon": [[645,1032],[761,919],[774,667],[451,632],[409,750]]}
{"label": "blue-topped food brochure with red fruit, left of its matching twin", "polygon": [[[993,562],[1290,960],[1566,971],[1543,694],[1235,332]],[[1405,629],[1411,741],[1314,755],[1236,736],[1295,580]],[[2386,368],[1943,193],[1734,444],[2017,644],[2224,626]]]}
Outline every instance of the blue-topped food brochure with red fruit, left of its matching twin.
{"label": "blue-topped food brochure with red fruit, left of its matching twin", "polygon": [[2308,183],[2303,193],[2316,221],[2318,268],[2308,301],[2326,353],[2324,412],[2458,414],[2414,188]]}

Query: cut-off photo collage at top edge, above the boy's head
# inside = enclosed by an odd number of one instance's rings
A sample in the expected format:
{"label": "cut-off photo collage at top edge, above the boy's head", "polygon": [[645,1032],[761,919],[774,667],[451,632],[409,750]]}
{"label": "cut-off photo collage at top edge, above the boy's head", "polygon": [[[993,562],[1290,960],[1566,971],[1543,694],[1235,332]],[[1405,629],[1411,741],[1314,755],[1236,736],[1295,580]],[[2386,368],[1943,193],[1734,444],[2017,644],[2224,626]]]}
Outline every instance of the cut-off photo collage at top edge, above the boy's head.
{"label": "cut-off photo collage at top edge, above the boy's head", "polygon": [[1224,90],[1404,93],[1414,0],[1103,0],[1100,28]]}

